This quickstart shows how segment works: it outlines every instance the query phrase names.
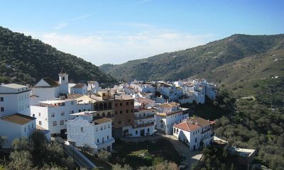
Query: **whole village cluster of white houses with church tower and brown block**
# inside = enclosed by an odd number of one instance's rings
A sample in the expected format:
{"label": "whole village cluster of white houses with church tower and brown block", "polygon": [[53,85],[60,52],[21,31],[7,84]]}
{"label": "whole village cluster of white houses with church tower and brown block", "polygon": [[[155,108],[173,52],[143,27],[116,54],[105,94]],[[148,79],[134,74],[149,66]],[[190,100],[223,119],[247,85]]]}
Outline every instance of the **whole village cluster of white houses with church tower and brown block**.
{"label": "whole village cluster of white houses with church tower and brown block", "polygon": [[[43,78],[34,86],[0,85],[0,135],[11,147],[17,137],[29,137],[35,130],[48,140],[66,136],[76,147],[90,147],[94,153],[111,152],[118,137],[154,135],[158,130],[174,135],[195,150],[213,140],[214,122],[190,118],[183,103],[204,103],[214,99],[214,84],[206,80],[132,81],[102,89],[97,81],[70,84],[62,69],[59,81]],[[0,144],[1,145],[1,144]]]}

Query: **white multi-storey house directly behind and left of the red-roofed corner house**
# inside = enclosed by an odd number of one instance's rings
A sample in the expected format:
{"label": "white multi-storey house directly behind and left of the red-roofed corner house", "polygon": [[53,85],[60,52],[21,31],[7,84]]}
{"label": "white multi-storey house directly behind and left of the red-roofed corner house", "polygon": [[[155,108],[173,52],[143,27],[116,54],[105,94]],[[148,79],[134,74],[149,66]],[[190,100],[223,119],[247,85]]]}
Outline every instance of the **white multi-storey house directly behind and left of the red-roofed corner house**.
{"label": "white multi-storey house directly behind and left of the red-roofed corner house", "polygon": [[156,129],[171,135],[173,134],[173,125],[186,118],[188,118],[188,113],[182,111],[179,103],[163,103],[156,113]]}

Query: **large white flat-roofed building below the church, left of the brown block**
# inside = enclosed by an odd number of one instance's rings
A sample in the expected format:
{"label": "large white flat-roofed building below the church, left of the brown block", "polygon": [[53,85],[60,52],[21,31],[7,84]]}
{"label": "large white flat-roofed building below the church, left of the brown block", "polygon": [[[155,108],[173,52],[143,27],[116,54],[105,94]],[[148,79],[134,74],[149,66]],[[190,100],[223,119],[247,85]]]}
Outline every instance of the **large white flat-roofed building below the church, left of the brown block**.
{"label": "large white flat-roofed building below the church, left of the brown block", "polygon": [[50,130],[53,134],[64,134],[70,114],[78,111],[91,111],[91,103],[78,104],[76,100],[40,101],[31,106],[31,116],[37,118],[36,125]]}

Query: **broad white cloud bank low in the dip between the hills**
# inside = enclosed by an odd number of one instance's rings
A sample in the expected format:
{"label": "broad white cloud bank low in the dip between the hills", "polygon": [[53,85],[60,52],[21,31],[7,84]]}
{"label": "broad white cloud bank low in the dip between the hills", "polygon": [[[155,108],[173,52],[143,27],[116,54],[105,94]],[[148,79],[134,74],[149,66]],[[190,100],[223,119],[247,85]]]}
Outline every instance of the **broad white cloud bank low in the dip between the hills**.
{"label": "broad white cloud bank low in the dip between the hills", "polygon": [[120,64],[129,60],[151,57],[163,52],[203,45],[216,35],[191,35],[173,30],[146,29],[136,33],[97,31],[86,35],[44,33],[35,36],[53,47],[100,65]]}

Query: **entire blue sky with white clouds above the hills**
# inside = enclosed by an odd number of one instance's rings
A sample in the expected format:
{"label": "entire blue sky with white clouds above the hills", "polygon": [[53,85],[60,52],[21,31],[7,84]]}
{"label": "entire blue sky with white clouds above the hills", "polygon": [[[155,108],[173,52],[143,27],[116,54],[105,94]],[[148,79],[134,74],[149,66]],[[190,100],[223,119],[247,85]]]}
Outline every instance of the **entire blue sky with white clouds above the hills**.
{"label": "entire blue sky with white clouds above the hills", "polygon": [[0,0],[0,26],[93,64],[119,64],[234,33],[284,33],[283,9],[282,0]]}

